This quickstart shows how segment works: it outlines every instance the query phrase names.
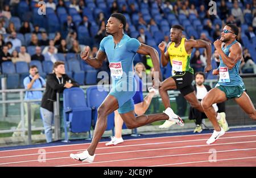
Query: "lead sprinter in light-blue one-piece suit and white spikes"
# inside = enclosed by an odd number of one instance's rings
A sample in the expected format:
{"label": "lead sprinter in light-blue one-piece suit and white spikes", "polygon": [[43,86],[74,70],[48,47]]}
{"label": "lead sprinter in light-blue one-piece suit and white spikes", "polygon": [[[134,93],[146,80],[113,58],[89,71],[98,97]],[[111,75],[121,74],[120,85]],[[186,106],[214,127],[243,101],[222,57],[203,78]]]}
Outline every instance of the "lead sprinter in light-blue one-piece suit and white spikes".
{"label": "lead sprinter in light-blue one-piece suit and white spikes", "polygon": [[[95,156],[94,152],[106,129],[107,116],[117,109],[129,129],[159,120],[179,122],[179,120],[172,118],[175,114],[172,113],[170,109],[166,109],[164,113],[156,115],[141,115],[135,117],[132,99],[136,92],[135,88],[137,88],[133,75],[134,56],[136,53],[150,55],[154,69],[159,74],[159,78],[155,77],[156,84],[160,83],[160,65],[158,52],[154,48],[141,44],[138,40],[125,35],[123,33],[125,26],[126,18],[124,15],[119,13],[112,14],[108,20],[108,24],[106,24],[106,32],[110,36],[105,37],[101,41],[97,56],[95,58],[89,57],[89,46],[81,53],[82,60],[95,68],[100,68],[102,62],[108,57],[113,85],[109,95],[98,108],[97,123],[92,143],[87,150],[79,154],[71,154],[72,159],[82,162],[93,162]],[[157,74],[155,74],[155,76],[156,75]]]}

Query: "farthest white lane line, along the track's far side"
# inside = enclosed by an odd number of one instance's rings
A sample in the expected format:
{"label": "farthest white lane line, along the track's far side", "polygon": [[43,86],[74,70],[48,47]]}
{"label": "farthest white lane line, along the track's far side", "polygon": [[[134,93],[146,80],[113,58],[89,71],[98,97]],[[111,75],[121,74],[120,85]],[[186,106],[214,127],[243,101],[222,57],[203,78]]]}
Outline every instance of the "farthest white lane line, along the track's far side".
{"label": "farthest white lane line, along the track's far side", "polygon": [[[226,133],[236,133],[236,132],[255,132],[255,130],[242,130],[242,131],[232,131],[232,132],[226,132]],[[210,135],[212,133],[203,133],[203,134],[189,134],[189,135],[174,135],[174,136],[164,136],[164,137],[152,137],[152,138],[136,138],[136,139],[127,139],[126,141],[136,141],[136,140],[143,140],[143,139],[158,139],[158,138],[172,138],[172,137],[197,137],[197,136],[201,136],[201,135]],[[106,143],[109,141],[105,141],[105,142],[100,142],[100,143]],[[6,151],[20,151],[20,150],[32,150],[32,149],[44,149],[44,148],[48,148],[48,147],[63,147],[63,146],[74,146],[74,145],[89,145],[90,143],[75,143],[75,144],[69,144],[69,145],[55,145],[55,146],[44,146],[44,147],[33,147],[33,148],[27,148],[27,149],[14,149],[14,150],[2,150],[0,152],[6,152]]]}

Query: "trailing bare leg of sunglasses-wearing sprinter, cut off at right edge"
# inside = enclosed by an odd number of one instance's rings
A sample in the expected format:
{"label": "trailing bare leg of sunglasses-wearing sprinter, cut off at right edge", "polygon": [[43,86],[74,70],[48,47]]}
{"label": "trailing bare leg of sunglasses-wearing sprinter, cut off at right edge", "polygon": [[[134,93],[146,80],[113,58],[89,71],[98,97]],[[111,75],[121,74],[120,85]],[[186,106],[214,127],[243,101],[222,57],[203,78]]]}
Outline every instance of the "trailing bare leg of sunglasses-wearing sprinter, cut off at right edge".
{"label": "trailing bare leg of sunglasses-wearing sprinter, cut off at right edge", "polygon": [[256,110],[254,108],[253,102],[251,102],[250,97],[244,91],[240,98],[234,99],[238,105],[250,116],[253,120],[256,120]]}

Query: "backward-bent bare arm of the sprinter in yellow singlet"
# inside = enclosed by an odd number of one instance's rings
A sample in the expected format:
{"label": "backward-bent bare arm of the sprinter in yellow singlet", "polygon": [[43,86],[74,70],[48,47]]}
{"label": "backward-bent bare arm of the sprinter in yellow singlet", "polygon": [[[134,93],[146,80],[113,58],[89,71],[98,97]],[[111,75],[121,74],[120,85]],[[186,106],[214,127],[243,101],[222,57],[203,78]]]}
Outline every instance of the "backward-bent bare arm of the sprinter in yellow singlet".
{"label": "backward-bent bare arm of the sprinter in yellow singlet", "polygon": [[204,40],[193,40],[189,39],[185,41],[185,49],[187,52],[192,51],[193,48],[206,48],[207,50],[207,66],[205,67],[205,72],[212,70],[211,57],[212,57],[212,45],[208,41]]}

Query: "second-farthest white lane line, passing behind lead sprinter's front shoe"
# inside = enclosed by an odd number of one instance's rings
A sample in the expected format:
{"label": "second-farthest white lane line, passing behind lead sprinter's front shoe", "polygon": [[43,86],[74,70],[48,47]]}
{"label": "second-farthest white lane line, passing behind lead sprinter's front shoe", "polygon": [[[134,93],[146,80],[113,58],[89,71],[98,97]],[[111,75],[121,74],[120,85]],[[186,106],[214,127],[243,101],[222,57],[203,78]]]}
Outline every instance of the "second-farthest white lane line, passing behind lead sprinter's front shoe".
{"label": "second-farthest white lane line, passing behind lead sprinter's front shoe", "polygon": [[[215,145],[234,145],[234,144],[240,144],[240,143],[252,143],[256,141],[247,141],[247,142],[233,142],[233,143],[219,143]],[[111,154],[123,154],[123,153],[130,153],[130,152],[142,152],[142,151],[155,151],[155,150],[172,150],[172,149],[182,149],[182,148],[189,148],[189,147],[204,147],[204,146],[213,146],[213,145],[192,145],[192,146],[180,146],[180,147],[167,147],[163,149],[147,149],[147,150],[136,150],[136,151],[121,151],[121,152],[108,152],[108,153],[102,153],[102,154],[97,154],[97,155],[111,155]],[[256,148],[255,148],[256,149]],[[237,149],[239,150],[239,149]],[[250,149],[241,149],[241,150],[250,150]],[[236,150],[232,150],[236,151]],[[209,152],[208,152],[209,153]],[[187,155],[187,154],[184,154]],[[47,160],[55,160],[55,159],[71,159],[69,156],[68,157],[60,157],[60,158],[50,158],[50,159],[40,159],[40,162],[47,161]],[[129,159],[128,159],[129,160]],[[19,162],[9,162],[9,163],[0,163],[0,165],[5,165],[5,164],[15,164],[15,163],[27,163],[27,162],[38,162],[38,159],[36,160],[26,160],[26,161],[19,161]],[[110,161],[111,162],[111,161]],[[99,162],[94,162],[94,163],[99,163]]]}

